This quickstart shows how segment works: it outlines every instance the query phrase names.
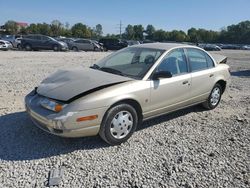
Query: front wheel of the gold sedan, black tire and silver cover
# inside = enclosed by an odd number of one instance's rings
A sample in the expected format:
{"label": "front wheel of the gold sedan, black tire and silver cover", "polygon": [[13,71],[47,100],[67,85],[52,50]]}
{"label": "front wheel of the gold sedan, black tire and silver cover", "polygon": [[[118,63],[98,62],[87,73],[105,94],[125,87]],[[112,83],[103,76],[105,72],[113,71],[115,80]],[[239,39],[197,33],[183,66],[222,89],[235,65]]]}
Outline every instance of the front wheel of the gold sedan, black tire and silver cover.
{"label": "front wheel of the gold sedan, black tire and silver cover", "polygon": [[137,124],[136,110],[129,104],[118,104],[106,112],[99,135],[108,144],[119,145],[131,137]]}

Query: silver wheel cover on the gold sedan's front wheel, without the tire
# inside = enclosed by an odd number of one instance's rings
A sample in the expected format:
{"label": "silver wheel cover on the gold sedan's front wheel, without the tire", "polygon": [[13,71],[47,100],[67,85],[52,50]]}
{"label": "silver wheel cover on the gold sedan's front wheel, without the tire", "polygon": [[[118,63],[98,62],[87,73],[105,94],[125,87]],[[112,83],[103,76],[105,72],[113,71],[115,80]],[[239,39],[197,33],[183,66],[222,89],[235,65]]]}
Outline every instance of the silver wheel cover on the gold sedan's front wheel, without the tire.
{"label": "silver wheel cover on the gold sedan's front wheel, without the tire", "polygon": [[116,139],[125,138],[132,130],[133,116],[128,111],[118,112],[111,121],[110,133]]}

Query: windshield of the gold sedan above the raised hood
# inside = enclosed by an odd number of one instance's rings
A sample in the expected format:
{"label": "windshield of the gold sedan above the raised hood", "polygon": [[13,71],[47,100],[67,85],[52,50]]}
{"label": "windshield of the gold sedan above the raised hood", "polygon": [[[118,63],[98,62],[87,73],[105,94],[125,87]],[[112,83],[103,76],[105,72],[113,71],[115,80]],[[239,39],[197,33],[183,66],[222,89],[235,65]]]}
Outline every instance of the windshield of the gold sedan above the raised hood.
{"label": "windshield of the gold sedan above the raised hood", "polygon": [[164,50],[129,47],[102,59],[91,68],[142,79]]}

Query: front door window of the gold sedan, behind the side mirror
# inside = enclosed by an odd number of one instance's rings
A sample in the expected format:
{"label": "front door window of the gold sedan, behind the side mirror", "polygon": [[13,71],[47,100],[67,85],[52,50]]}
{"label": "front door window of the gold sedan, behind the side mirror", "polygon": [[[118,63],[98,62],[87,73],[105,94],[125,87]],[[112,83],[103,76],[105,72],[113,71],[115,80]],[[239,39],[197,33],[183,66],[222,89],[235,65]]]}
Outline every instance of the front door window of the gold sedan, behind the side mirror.
{"label": "front door window of the gold sedan, behind the side mirror", "polygon": [[188,72],[187,61],[183,49],[175,49],[168,53],[157,67],[157,72],[168,71],[173,76]]}

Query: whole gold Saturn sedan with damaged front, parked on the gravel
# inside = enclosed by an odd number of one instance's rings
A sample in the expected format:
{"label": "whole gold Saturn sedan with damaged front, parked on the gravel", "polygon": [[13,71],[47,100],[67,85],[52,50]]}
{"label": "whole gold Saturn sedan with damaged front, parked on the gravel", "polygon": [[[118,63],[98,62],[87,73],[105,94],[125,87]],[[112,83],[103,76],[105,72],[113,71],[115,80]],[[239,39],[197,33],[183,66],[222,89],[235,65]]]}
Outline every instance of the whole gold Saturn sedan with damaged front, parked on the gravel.
{"label": "whole gold Saturn sedan with damaged front, parked on the gravel", "polygon": [[135,45],[90,68],[59,70],[25,98],[41,129],[64,137],[125,142],[146,119],[195,104],[214,109],[226,89],[227,58],[183,44]]}

